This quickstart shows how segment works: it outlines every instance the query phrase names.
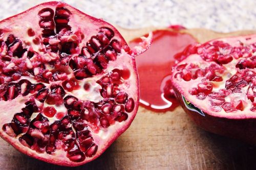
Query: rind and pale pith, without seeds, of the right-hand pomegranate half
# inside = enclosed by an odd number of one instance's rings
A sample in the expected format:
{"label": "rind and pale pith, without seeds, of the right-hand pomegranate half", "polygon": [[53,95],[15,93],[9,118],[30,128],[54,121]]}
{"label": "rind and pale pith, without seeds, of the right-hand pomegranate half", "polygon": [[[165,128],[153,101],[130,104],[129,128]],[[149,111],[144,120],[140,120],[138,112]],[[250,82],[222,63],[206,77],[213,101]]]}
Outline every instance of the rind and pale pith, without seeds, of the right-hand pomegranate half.
{"label": "rind and pale pith, without seeds, of the right-hand pomegranate half", "polygon": [[[253,44],[256,42],[256,35],[247,35],[247,36],[239,36],[239,37],[227,37],[227,38],[221,38],[221,39],[215,39],[208,41],[204,44],[212,44],[216,41],[221,41],[224,43],[228,43],[232,47],[239,47],[241,44],[244,44],[244,46]],[[198,44],[198,47],[201,45]],[[225,71],[229,72],[228,77],[223,77],[222,85],[221,87],[218,86],[218,82],[214,81],[209,81],[209,83],[214,83],[214,89],[212,92],[218,92],[218,90],[225,88],[225,83],[227,80],[229,80],[233,75],[236,75],[238,70],[241,71],[240,69],[236,68],[236,64],[243,60],[246,59],[246,56],[240,57],[240,58],[233,58],[233,60],[229,63],[225,64],[219,64],[220,66],[223,66],[225,68]],[[172,74],[172,84],[173,88],[175,91],[175,95],[179,103],[181,104],[182,108],[184,111],[188,114],[188,116],[202,129],[220,134],[223,136],[228,136],[231,138],[237,138],[243,141],[246,141],[248,143],[255,144],[256,143],[256,137],[253,135],[256,130],[254,128],[254,124],[256,123],[256,112],[250,110],[253,107],[252,102],[245,96],[246,91],[242,90],[241,93],[237,94],[236,96],[240,96],[240,98],[243,98],[246,107],[243,108],[242,110],[235,109],[234,111],[231,112],[226,112],[223,108],[221,111],[213,111],[209,107],[210,101],[209,97],[206,94],[206,99],[200,100],[197,98],[196,95],[192,95],[189,93],[189,90],[192,88],[196,88],[197,85],[201,82],[201,80],[204,78],[197,78],[194,80],[177,80],[177,67],[182,64],[190,64],[190,63],[197,63],[199,65],[210,65],[211,63],[216,63],[215,61],[205,61],[201,58],[200,54],[198,53],[193,53],[193,54],[188,54],[185,56],[184,60],[180,61],[179,63],[176,64],[176,66],[173,69],[173,74]],[[250,71],[256,72],[256,68],[245,68]],[[223,76],[223,75],[222,75]],[[252,78],[253,79],[253,78]],[[254,77],[255,79],[255,77]],[[191,92],[191,91],[190,91]],[[236,92],[233,92],[236,94]],[[193,104],[194,108],[190,108],[187,106],[186,102],[184,102],[184,99]],[[225,97],[225,100],[230,99],[229,95]],[[232,100],[232,99],[231,99]]]}

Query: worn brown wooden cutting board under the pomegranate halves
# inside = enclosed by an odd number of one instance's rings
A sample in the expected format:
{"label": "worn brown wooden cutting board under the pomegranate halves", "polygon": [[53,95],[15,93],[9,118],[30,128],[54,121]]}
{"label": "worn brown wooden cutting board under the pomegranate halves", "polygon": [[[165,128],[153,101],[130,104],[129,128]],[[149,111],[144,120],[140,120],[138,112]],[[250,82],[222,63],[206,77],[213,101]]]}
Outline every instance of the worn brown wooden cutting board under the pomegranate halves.
{"label": "worn brown wooden cutting board under the pomegranate halves", "polygon": [[[155,28],[119,29],[126,41]],[[225,36],[256,33],[239,31],[222,34],[189,29],[199,42]],[[225,130],[225,129],[223,129]],[[256,147],[205,132],[191,122],[181,107],[155,113],[139,107],[131,127],[98,159],[79,167],[62,167],[30,158],[0,139],[0,169],[255,169]]]}

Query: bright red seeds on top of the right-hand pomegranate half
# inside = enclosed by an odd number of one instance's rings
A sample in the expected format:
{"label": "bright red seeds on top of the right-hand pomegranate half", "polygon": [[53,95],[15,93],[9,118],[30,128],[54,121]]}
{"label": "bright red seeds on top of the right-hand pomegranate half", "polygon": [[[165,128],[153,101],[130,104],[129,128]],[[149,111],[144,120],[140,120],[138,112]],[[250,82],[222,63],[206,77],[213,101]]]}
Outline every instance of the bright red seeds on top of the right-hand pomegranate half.
{"label": "bright red seeds on top of the right-hand pomegranate half", "polygon": [[211,111],[256,111],[255,50],[255,43],[242,41],[234,46],[222,40],[189,45],[177,54],[184,60],[175,67],[174,78],[191,82],[189,94],[209,101]]}

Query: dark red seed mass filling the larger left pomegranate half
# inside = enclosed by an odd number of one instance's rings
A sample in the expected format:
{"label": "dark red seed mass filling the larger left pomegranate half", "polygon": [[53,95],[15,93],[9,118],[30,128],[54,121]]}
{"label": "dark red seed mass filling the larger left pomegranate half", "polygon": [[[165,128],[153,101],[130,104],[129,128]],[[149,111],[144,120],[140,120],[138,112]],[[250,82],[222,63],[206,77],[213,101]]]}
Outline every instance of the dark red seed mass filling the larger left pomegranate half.
{"label": "dark red seed mass filling the larger left pomegranate half", "polygon": [[[79,29],[73,32],[71,16],[63,5],[40,9],[41,34],[28,28],[31,42],[0,29],[0,102],[27,100],[3,126],[6,134],[37,153],[61,150],[69,160],[82,162],[97,153],[93,134],[125,121],[135,101],[123,88],[130,70],[107,69],[122,49],[129,49],[105,26],[81,43],[88,37]],[[93,95],[97,98],[90,100]]]}

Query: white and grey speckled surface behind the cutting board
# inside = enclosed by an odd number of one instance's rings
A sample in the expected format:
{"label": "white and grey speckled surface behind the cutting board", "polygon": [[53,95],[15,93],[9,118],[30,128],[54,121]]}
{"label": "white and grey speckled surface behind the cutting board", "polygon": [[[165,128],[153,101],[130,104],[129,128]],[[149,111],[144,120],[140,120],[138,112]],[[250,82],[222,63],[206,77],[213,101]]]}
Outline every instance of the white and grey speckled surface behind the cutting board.
{"label": "white and grey speckled surface behind the cutting board", "polygon": [[[45,0],[1,0],[0,19]],[[253,0],[63,0],[92,16],[124,28],[183,25],[219,32],[256,29]]]}

